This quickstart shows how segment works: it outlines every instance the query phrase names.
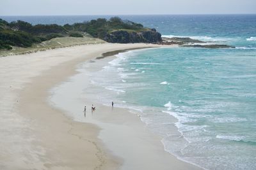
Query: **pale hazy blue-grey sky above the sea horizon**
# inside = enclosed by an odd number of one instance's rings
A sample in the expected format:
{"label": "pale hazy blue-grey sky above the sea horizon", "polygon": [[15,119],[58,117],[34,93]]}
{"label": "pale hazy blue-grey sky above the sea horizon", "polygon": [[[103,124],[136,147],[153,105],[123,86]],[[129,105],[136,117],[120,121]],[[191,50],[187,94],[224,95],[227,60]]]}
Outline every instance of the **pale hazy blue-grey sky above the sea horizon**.
{"label": "pale hazy blue-grey sky above the sea horizon", "polygon": [[0,0],[0,15],[256,13],[256,0]]}

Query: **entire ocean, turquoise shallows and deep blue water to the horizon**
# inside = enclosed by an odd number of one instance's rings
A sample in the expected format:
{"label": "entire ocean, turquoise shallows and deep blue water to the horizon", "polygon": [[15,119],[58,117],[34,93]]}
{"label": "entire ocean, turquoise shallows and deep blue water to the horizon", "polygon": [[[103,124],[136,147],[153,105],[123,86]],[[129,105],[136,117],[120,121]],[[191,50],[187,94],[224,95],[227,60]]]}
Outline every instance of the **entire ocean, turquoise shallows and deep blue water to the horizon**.
{"label": "entire ocean, turquoise shallows and deep blue water to the horizon", "polygon": [[[112,16],[1,17],[73,24]],[[256,15],[121,15],[165,37],[236,48],[119,53],[91,74],[95,100],[140,114],[164,149],[205,169],[256,169]],[[90,90],[90,89],[88,89]],[[173,127],[177,131],[173,131]]]}

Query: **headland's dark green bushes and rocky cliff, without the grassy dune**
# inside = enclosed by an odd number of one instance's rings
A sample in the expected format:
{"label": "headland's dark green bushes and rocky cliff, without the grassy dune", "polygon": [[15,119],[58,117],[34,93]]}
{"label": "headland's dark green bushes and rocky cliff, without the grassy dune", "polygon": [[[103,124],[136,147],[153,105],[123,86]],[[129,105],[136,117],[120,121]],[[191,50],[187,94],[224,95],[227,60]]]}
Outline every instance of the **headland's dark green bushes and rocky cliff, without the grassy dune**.
{"label": "headland's dark green bushes and rocky cliff, without the grassy dune", "polygon": [[[161,34],[155,29],[148,29],[141,24],[122,20],[118,17],[98,18],[75,24],[37,24],[32,25],[22,20],[6,22],[0,19],[0,49],[12,50],[14,46],[28,48],[33,43],[42,43],[53,38],[84,35],[100,38],[111,43],[156,43],[161,41]],[[154,36],[154,38],[152,38]]]}

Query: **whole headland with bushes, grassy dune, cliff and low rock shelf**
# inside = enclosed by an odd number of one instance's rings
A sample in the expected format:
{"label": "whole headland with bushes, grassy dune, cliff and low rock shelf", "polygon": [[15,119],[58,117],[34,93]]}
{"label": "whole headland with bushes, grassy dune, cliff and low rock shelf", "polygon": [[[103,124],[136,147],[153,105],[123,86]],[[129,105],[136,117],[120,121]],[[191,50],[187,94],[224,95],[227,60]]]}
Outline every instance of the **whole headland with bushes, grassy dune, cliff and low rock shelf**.
{"label": "whole headland with bushes, grassy dune, cliff and low rock shelf", "polygon": [[[60,43],[60,41],[64,43]],[[144,27],[142,24],[129,20],[122,20],[119,17],[112,17],[109,20],[98,18],[88,22],[65,25],[32,25],[22,20],[9,23],[0,18],[0,55],[3,52],[6,53],[8,50],[17,53],[20,49],[23,49],[22,52],[26,52],[28,49],[42,50],[56,48],[58,46],[81,45],[95,42],[103,43],[106,41],[109,43],[176,44],[204,48],[232,47],[219,44],[197,45],[196,43],[205,42],[191,38],[161,38],[161,34],[156,29],[150,29]]]}

